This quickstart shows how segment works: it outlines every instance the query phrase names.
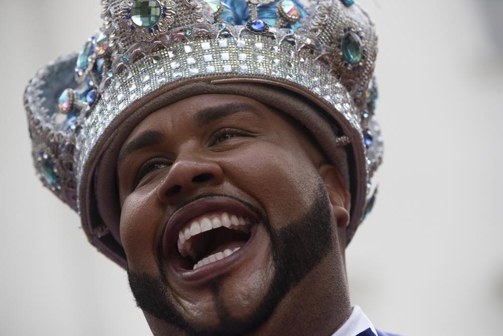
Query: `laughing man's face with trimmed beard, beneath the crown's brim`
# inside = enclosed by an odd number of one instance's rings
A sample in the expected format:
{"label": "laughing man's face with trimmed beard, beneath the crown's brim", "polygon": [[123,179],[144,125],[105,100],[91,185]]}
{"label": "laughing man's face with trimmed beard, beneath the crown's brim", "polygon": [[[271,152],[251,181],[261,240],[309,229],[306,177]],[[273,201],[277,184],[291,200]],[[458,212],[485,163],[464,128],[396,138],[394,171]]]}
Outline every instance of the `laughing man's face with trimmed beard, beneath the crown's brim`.
{"label": "laughing man's face with trimmed beard, beneath the crown's brim", "polygon": [[322,164],[301,127],[253,99],[200,95],[147,116],[117,173],[130,285],[152,330],[265,330],[344,292]]}

